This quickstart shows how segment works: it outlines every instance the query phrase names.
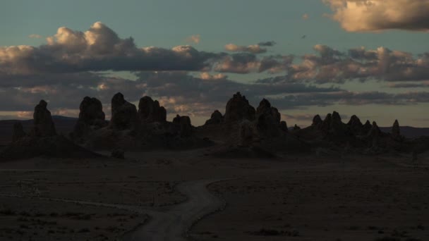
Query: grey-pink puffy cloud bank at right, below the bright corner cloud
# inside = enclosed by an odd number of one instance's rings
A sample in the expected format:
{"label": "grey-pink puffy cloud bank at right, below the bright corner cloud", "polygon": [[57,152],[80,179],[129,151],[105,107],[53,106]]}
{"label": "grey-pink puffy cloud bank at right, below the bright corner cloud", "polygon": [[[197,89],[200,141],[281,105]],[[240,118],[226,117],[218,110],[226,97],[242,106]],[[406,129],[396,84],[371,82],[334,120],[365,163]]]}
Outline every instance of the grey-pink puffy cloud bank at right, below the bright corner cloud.
{"label": "grey-pink puffy cloud bank at right, below the bright corner cloud", "polygon": [[349,80],[389,82],[429,80],[429,54],[413,54],[379,47],[363,47],[339,51],[318,44],[316,54],[302,56],[301,62],[290,64],[283,78],[267,78],[259,82],[344,83]]}

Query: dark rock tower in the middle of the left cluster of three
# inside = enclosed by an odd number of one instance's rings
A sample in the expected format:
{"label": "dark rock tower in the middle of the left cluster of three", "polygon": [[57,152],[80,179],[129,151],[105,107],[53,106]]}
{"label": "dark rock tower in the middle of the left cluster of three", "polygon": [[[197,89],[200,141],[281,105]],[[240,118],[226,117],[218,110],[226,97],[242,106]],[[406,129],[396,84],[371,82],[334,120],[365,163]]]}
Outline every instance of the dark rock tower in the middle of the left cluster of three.
{"label": "dark rock tower in the middle of the left cluster of three", "polygon": [[111,99],[110,126],[114,130],[135,129],[138,127],[138,115],[135,105],[123,99],[123,94],[117,93]]}

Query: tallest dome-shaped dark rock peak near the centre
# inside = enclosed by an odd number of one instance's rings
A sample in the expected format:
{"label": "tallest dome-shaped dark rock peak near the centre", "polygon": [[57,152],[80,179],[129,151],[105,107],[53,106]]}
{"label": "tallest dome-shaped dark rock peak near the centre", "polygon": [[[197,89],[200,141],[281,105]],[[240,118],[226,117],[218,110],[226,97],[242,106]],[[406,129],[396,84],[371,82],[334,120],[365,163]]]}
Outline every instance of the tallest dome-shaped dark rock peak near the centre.
{"label": "tallest dome-shaped dark rock peak near the centre", "polygon": [[243,120],[254,121],[255,108],[250,106],[245,96],[241,96],[240,92],[237,92],[226,104],[224,117],[226,123]]}

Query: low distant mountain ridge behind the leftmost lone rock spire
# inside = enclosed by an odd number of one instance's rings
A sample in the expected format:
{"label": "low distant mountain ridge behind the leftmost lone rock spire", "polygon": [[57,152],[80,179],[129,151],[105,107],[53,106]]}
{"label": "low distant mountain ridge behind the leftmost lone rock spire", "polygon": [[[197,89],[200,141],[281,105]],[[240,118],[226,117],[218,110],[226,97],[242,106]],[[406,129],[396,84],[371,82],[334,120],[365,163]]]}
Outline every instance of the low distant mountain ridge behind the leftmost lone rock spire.
{"label": "low distant mountain ridge behind the leftmost lone rock spire", "polygon": [[[68,116],[52,116],[52,120],[55,123],[56,132],[59,134],[68,135],[74,126],[78,118],[68,117]],[[32,120],[6,120],[0,121],[0,146],[6,145],[11,142],[13,124],[20,121],[23,124],[24,131],[26,133],[30,132],[32,127]]]}

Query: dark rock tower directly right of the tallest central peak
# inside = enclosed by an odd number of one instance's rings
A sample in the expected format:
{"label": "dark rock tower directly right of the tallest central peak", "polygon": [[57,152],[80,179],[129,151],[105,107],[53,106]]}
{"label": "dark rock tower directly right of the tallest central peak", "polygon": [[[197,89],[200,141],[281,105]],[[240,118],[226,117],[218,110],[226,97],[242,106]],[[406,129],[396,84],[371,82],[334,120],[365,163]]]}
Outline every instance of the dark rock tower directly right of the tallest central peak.
{"label": "dark rock tower directly right of the tallest central peak", "polygon": [[262,136],[276,137],[280,135],[279,111],[272,107],[270,101],[262,99],[256,109],[256,127]]}

